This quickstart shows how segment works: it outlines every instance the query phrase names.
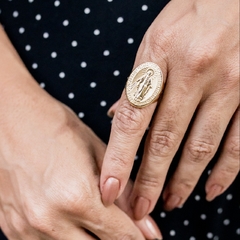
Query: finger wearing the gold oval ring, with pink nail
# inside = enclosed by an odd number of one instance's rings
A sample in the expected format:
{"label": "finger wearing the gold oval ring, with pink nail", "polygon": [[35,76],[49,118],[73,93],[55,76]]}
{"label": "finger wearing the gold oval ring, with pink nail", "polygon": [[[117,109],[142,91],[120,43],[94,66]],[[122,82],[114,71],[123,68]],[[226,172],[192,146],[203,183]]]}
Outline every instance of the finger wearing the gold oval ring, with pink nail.
{"label": "finger wearing the gold oval ring, with pink nail", "polygon": [[[136,65],[146,62],[144,58],[141,61],[136,62]],[[163,76],[166,76],[164,61],[157,63],[163,70]],[[100,179],[102,201],[106,206],[111,205],[122,194],[126,186],[137,149],[150,123],[156,104],[155,102],[139,109],[130,105],[125,91],[121,96],[113,118]]]}

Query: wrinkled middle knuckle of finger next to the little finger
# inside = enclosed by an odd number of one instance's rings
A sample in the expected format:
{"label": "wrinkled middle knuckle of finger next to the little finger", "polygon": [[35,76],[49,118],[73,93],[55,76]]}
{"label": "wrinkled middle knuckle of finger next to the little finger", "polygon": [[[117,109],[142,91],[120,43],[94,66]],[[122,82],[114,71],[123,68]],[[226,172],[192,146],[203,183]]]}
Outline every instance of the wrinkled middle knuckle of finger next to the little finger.
{"label": "wrinkled middle knuckle of finger next to the little finger", "polygon": [[192,140],[187,145],[187,151],[190,155],[189,160],[194,163],[200,163],[212,159],[215,145],[204,140]]}

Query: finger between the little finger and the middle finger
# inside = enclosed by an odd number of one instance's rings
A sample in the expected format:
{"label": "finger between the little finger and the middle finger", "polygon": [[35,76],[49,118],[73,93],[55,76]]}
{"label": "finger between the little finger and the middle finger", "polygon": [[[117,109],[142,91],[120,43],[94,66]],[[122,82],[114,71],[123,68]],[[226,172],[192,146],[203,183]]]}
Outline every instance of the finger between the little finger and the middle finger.
{"label": "finger between the little finger and the middle finger", "polygon": [[166,210],[183,205],[207,164],[215,155],[235,109],[237,99],[213,94],[201,104],[183,153],[163,199]]}

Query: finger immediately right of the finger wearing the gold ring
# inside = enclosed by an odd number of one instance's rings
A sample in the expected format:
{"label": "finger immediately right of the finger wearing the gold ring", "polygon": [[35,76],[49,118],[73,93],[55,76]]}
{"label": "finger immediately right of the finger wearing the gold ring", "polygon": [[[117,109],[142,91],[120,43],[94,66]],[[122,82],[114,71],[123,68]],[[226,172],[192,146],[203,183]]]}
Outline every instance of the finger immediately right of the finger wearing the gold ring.
{"label": "finger immediately right of the finger wearing the gold ring", "polygon": [[135,219],[141,219],[153,210],[170,163],[201,99],[199,90],[190,90],[185,81],[175,84],[177,77],[169,74],[163,98],[147,136],[131,197]]}

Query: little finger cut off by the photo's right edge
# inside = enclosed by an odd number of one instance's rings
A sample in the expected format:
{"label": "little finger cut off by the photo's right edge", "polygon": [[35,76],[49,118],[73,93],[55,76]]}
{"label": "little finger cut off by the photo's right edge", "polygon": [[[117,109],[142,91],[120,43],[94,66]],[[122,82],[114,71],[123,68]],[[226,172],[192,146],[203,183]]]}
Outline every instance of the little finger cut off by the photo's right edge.
{"label": "little finger cut off by the photo's right edge", "polygon": [[220,157],[206,183],[206,199],[212,201],[234,181],[240,169],[239,162],[240,108],[235,112],[223,144]]}

